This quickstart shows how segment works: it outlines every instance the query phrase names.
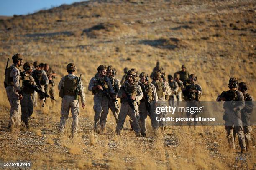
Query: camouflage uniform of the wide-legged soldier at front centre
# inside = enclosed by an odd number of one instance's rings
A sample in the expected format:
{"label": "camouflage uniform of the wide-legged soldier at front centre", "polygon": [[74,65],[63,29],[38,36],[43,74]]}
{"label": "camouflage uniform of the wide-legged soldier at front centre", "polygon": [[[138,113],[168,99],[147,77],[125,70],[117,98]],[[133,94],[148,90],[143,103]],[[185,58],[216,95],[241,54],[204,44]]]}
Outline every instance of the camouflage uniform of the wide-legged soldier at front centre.
{"label": "camouflage uniform of the wide-legged soldier at front centre", "polygon": [[[135,77],[134,77],[135,78]],[[135,110],[133,110],[130,105],[128,104],[128,100],[126,98],[123,98],[123,86],[125,86],[127,92],[135,97],[135,101],[133,101],[133,105]],[[121,110],[118,115],[118,124],[116,126],[116,133],[120,135],[120,132],[123,128],[123,124],[125,122],[125,118],[127,115],[130,116],[132,119],[132,128],[135,131],[136,135],[140,133],[140,125],[139,125],[139,112],[138,112],[138,105],[137,102],[140,101],[143,97],[143,93],[141,90],[141,86],[138,85],[137,82],[133,82],[131,85],[128,82],[125,82],[119,92],[118,92],[118,98],[121,98]]]}

